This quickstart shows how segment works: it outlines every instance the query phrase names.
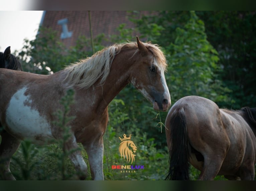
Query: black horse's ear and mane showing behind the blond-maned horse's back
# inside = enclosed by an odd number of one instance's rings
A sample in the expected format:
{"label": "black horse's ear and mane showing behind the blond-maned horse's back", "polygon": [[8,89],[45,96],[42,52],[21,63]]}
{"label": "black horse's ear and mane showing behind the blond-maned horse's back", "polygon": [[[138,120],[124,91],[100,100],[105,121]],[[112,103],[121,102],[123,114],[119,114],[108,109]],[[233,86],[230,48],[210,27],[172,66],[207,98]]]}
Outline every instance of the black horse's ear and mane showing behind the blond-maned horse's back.
{"label": "black horse's ear and mane showing behind the blond-maned horse's back", "polygon": [[4,53],[0,52],[0,68],[22,71],[20,62],[11,54],[11,47],[7,47]]}

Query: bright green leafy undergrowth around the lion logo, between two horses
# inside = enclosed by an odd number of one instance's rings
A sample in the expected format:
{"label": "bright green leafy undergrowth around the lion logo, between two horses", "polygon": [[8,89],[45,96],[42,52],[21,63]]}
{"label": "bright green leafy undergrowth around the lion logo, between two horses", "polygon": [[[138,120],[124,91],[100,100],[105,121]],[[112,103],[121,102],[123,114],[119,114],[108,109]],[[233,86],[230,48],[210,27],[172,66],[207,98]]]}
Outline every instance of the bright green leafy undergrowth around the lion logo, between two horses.
{"label": "bright green leafy undergrowth around the lion logo, between two horses", "polygon": [[[104,175],[106,180],[162,180],[166,173],[166,161],[168,161],[167,147],[156,149],[154,138],[149,138],[146,132],[139,127],[127,127],[125,121],[129,121],[127,113],[122,112],[124,102],[114,99],[109,105],[110,120],[104,135]],[[126,162],[118,151],[123,133],[132,134],[131,140],[135,143],[135,162],[132,165],[144,165],[144,169],[138,169],[134,173],[120,172],[112,169],[112,165],[131,165]]]}

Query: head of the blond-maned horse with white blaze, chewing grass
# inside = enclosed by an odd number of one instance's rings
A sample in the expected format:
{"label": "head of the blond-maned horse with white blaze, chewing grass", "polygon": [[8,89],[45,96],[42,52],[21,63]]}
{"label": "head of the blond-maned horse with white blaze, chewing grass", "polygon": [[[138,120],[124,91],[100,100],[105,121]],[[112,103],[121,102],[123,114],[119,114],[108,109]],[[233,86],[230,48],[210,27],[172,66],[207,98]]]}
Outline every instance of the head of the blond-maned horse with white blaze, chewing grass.
{"label": "head of the blond-maned horse with white blaze, chewing grass", "polygon": [[171,105],[171,98],[164,77],[167,67],[165,56],[157,45],[142,43],[138,37],[137,45],[137,60],[130,82],[152,102],[155,110],[166,111]]}

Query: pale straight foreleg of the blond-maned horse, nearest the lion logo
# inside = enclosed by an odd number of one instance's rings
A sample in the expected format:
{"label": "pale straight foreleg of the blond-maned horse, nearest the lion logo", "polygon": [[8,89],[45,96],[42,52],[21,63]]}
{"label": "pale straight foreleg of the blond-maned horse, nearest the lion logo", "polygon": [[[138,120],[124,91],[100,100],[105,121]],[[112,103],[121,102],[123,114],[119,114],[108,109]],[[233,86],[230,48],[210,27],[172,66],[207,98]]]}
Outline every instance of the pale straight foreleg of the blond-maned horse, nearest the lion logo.
{"label": "pale straight foreleg of the blond-maned horse, nearest the lion logo", "polygon": [[103,175],[103,138],[91,143],[90,146],[84,145],[88,154],[90,169],[93,180],[104,180]]}

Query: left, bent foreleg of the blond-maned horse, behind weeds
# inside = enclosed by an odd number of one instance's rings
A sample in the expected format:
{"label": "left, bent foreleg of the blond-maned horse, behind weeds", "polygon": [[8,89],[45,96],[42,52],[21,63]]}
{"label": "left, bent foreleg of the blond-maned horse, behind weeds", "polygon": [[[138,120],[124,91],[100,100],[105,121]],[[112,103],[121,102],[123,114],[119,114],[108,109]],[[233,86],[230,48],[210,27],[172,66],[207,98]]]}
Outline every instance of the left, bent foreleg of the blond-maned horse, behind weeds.
{"label": "left, bent foreleg of the blond-maned horse, behind weeds", "polygon": [[66,142],[65,149],[67,149],[67,151],[71,151],[72,149],[74,149],[74,151],[69,154],[69,158],[75,165],[75,169],[77,170],[77,172],[79,172],[79,174],[82,174],[79,175],[80,180],[84,180],[88,175],[88,167],[81,154],[81,151],[76,150],[78,149],[78,144],[76,141],[76,137],[74,135],[72,135],[71,139],[69,139],[69,141]]}

